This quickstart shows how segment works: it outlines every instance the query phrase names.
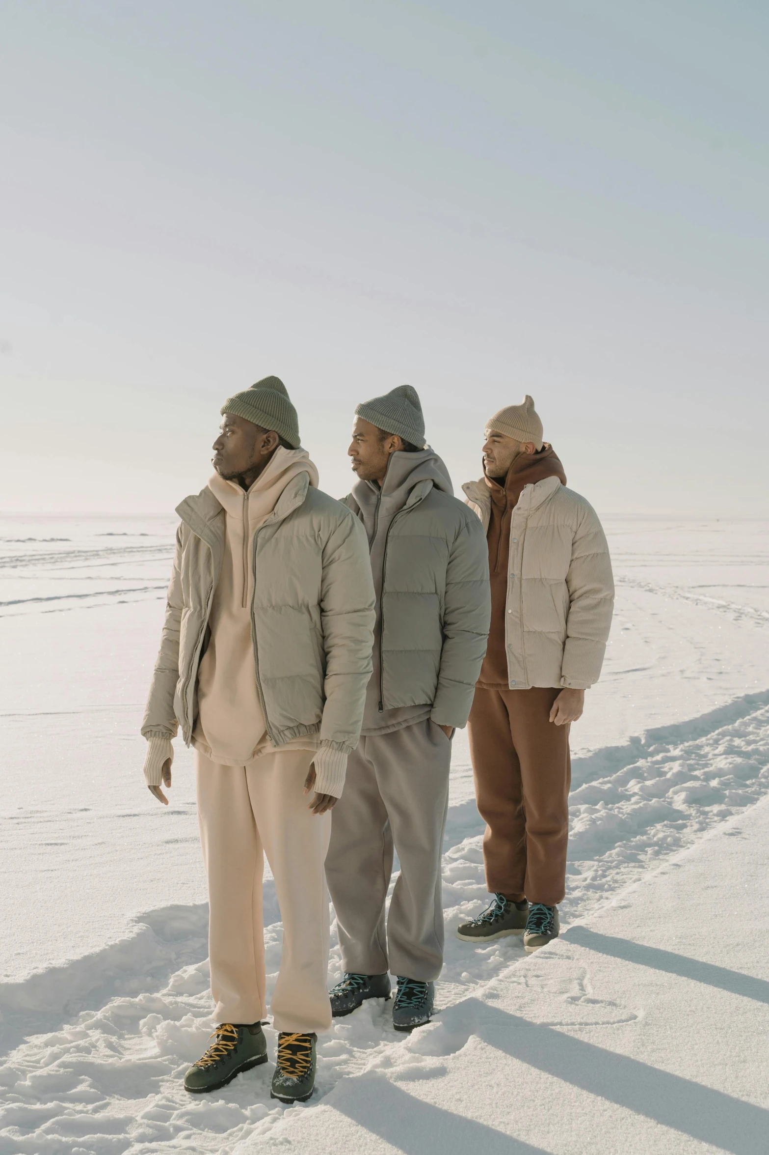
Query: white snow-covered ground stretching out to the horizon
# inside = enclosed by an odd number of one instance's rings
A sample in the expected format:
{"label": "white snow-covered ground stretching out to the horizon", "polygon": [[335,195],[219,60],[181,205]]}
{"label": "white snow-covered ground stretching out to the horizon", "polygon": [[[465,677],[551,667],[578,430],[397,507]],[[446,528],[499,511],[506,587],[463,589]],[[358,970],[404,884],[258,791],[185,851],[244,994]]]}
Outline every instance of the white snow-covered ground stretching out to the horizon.
{"label": "white snow-covered ground stretching out to the horizon", "polygon": [[[700,957],[716,939],[718,949],[732,938],[745,942],[762,918],[766,924],[766,889],[755,911],[742,887],[766,879],[767,822],[754,828],[749,815],[767,807],[748,807],[769,792],[769,522],[606,519],[606,529],[617,613],[603,678],[572,731],[563,923],[579,922],[604,938],[621,931],[657,951],[668,944],[678,952],[676,937],[688,936],[683,953]],[[482,824],[463,736],[454,743],[444,856],[447,953],[435,1024],[404,1041],[385,1009],[361,1008],[322,1042],[318,1090],[303,1108],[284,1111],[270,1101],[267,1067],[203,1102],[189,1101],[179,1075],[211,1029],[191,765],[180,748],[172,805],[160,807],[143,785],[137,735],[173,531],[173,519],[0,520],[0,1155],[244,1153],[267,1142],[302,1152],[431,1153],[465,1150],[468,1141],[511,1153],[669,1152],[681,1143],[681,1150],[761,1150],[749,1137],[766,1112],[751,1113],[759,1089],[740,1082],[739,1072],[730,1073],[731,1090],[722,1095],[731,1105],[718,1100],[714,1106],[740,1123],[742,1138],[732,1146],[722,1141],[723,1127],[687,1131],[674,1111],[649,1115],[629,1091],[620,1101],[598,1083],[579,1082],[596,1046],[636,1059],[646,1046],[643,1063],[674,1071],[689,1091],[719,1086],[704,1058],[677,1066],[684,1044],[671,1050],[670,1036],[683,1030],[688,1038],[691,1024],[678,1003],[665,1001],[664,983],[658,994],[654,984],[643,988],[640,966],[601,951],[596,962],[597,939],[580,939],[576,929],[529,960],[518,940],[474,948],[453,938],[453,927],[485,899]],[[736,821],[755,837],[730,835]],[[747,882],[731,850],[725,870],[715,852],[722,844],[762,854],[763,873],[755,867]],[[665,919],[674,916],[672,930],[657,925],[654,902],[638,917],[627,915],[624,929],[605,924],[618,910],[638,909],[642,891],[634,887],[654,887],[655,878],[674,886],[685,872],[671,864],[691,855],[700,856],[700,875],[706,865],[711,874],[701,881],[695,872],[696,885],[681,884],[678,908],[670,893],[659,899],[669,903]],[[708,916],[700,882],[713,906]],[[747,912],[734,910],[736,891]],[[280,923],[269,879],[266,899],[274,979]],[[706,927],[703,917],[713,919]],[[759,983],[754,955],[734,949],[713,969],[746,970]],[[330,979],[338,971],[334,952]],[[598,971],[610,996],[598,992]],[[768,989],[766,982],[751,988],[764,992],[764,1003]],[[741,1007],[742,996],[733,998]],[[663,1005],[669,1019],[659,1018]],[[496,1046],[489,1031],[507,1021],[495,1019],[495,1027],[491,1019],[503,1009],[522,1050],[489,1059],[484,1048]],[[647,1021],[656,1023],[653,1036]],[[531,1023],[549,1024],[550,1043],[530,1033]],[[602,1041],[574,1049],[570,1040],[587,1037],[586,1030]],[[565,1033],[566,1058],[545,1071],[534,1052],[541,1042],[550,1053],[556,1031]],[[606,1031],[619,1042],[606,1041]],[[711,1043],[696,1046],[707,1058]],[[568,1056],[571,1083],[561,1070]],[[511,1064],[505,1102],[495,1080]],[[521,1065],[540,1071],[546,1086],[540,1075],[521,1081]],[[635,1067],[619,1070],[632,1085]],[[664,1087],[673,1095],[678,1085],[670,1079]],[[519,1085],[542,1096],[538,1126],[530,1125],[533,1109]],[[657,1083],[649,1088],[656,1094]],[[662,1094],[663,1083],[657,1089]],[[740,1113],[734,1104],[742,1100]],[[689,1118],[698,1113],[696,1094],[686,1102]],[[572,1109],[582,1130],[570,1146],[561,1116]],[[610,1128],[603,1146],[595,1139],[601,1127]]]}

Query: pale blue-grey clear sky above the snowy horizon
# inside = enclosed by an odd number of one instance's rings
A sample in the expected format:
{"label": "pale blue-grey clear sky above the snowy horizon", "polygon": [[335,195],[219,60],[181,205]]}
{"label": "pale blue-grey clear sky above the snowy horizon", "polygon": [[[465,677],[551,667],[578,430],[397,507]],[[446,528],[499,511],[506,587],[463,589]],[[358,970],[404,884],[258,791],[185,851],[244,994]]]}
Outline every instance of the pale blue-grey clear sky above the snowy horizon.
{"label": "pale blue-grey clear sky above the snowy horizon", "polygon": [[171,512],[282,378],[530,393],[600,513],[769,515],[766,0],[0,0],[5,511]]}

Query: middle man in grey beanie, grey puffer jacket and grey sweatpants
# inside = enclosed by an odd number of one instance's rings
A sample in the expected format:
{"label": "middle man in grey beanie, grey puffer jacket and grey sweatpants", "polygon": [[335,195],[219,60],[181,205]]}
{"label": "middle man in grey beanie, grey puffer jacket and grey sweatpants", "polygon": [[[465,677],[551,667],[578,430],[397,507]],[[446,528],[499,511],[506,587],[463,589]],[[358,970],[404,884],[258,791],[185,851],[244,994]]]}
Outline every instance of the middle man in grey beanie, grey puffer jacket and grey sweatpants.
{"label": "middle man in grey beanie, grey puffer jacket and grey sweatpants", "polygon": [[[416,390],[400,386],[355,412],[347,452],[359,479],[346,504],[369,538],[376,626],[362,737],[326,858],[345,967],[331,1006],[344,1015],[387,997],[392,969],[393,1024],[410,1030],[429,1022],[443,967],[451,737],[467,722],[487,647],[488,551],[424,444]],[[400,878],[385,930],[393,847]]]}

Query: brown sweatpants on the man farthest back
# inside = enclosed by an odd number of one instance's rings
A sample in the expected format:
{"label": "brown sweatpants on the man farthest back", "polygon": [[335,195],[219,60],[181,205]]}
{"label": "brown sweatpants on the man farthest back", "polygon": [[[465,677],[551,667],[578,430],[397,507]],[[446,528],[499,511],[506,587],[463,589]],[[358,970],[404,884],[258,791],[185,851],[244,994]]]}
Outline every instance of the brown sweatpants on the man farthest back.
{"label": "brown sweatpants on the man farthest back", "polygon": [[559,693],[478,688],[468,722],[487,887],[549,907],[566,889],[572,781],[570,728],[549,721]]}

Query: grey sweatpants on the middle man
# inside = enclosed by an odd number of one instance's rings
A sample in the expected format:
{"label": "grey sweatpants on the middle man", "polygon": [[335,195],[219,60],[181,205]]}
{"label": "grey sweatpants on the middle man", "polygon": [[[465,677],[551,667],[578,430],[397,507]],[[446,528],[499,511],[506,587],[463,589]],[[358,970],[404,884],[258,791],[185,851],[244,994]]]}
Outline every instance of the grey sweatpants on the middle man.
{"label": "grey sweatpants on the middle man", "polygon": [[[349,755],[326,858],[345,970],[422,981],[440,974],[450,763],[451,742],[429,718],[361,738]],[[393,845],[400,877],[385,937]]]}

